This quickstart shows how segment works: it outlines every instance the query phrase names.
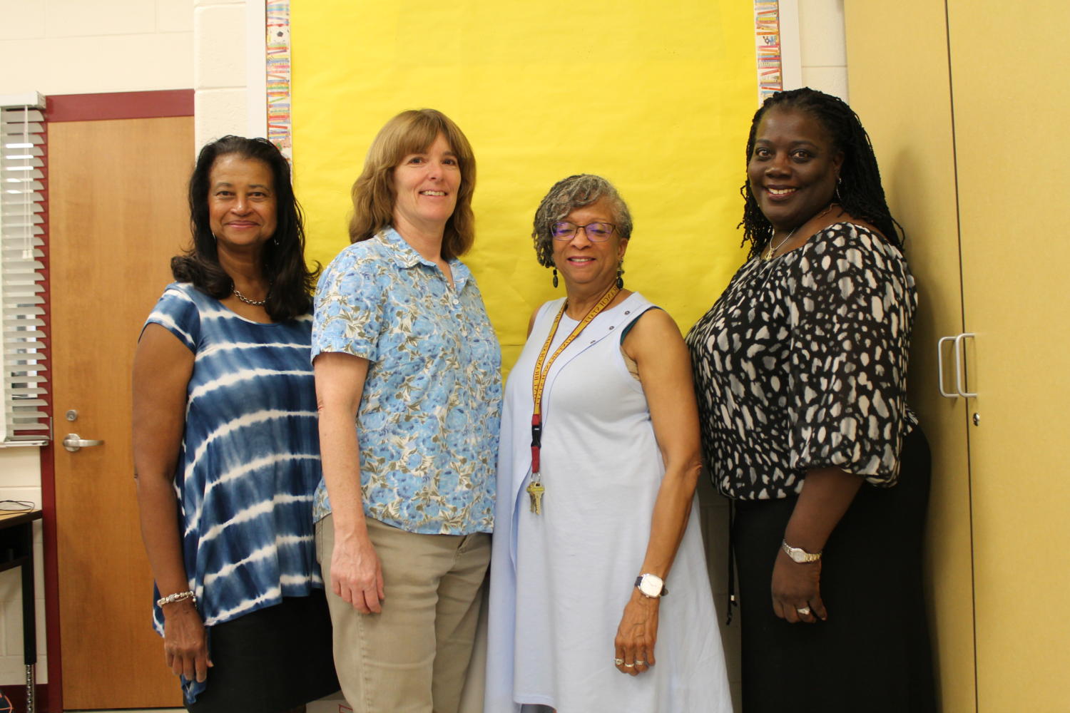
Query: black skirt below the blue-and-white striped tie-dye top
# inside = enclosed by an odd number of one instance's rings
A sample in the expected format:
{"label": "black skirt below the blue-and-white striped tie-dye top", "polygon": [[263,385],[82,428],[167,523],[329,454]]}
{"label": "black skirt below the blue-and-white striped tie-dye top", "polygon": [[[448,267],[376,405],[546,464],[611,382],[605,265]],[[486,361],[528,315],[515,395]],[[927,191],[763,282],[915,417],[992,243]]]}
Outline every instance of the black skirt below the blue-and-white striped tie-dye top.
{"label": "black skirt below the blue-and-white striped tie-dye top", "polygon": [[339,687],[322,589],[210,627],[209,651],[193,713],[277,713]]}

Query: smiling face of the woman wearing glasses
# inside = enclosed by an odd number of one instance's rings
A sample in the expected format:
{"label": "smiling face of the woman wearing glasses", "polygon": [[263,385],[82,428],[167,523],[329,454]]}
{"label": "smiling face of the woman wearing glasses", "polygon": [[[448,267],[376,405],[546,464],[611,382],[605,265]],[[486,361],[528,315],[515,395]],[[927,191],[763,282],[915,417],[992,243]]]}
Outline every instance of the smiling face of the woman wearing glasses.
{"label": "smiling face of the woman wearing glasses", "polygon": [[[616,222],[608,199],[599,199],[569,213],[565,220],[577,226],[591,222]],[[566,289],[608,290],[616,278],[616,267],[628,249],[628,241],[617,231],[605,243],[592,243],[585,230],[577,230],[567,241],[553,241],[553,264],[565,279]]]}

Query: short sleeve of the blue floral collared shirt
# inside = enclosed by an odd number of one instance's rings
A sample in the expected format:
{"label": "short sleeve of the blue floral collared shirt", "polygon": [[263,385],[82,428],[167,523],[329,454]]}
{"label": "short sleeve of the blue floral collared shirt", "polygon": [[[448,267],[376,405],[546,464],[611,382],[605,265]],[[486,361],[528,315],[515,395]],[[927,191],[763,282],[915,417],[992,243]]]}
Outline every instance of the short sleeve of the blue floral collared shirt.
{"label": "short sleeve of the blue floral collared shirt", "polygon": [[379,360],[389,279],[381,264],[350,246],[323,270],[316,288],[312,359],[338,352]]}

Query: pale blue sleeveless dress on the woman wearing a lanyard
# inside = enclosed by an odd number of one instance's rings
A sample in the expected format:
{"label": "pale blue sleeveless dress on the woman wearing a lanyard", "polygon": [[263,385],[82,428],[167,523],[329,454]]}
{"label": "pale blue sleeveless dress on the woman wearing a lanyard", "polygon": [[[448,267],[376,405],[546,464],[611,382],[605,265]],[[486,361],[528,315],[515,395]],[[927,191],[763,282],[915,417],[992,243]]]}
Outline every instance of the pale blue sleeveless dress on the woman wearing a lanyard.
{"label": "pale blue sleeveless dress on the woman wearing a lanyard", "polygon": [[[732,710],[698,508],[666,582],[657,664],[630,677],[613,638],[646,552],[664,466],[621,335],[653,305],[606,310],[557,357],[542,401],[542,514],[530,512],[531,378],[562,299],[544,305],[506,384],[485,713]],[[550,354],[574,320],[562,317]]]}

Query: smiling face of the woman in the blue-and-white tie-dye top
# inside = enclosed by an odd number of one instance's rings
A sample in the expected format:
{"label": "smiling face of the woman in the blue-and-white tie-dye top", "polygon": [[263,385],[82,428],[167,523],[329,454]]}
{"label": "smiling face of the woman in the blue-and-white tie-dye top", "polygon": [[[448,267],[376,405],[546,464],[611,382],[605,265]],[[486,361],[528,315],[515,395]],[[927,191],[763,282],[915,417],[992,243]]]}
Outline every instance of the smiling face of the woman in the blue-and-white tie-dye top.
{"label": "smiling face of the woman in the blue-and-white tie-dye top", "polygon": [[212,164],[209,224],[225,248],[259,248],[277,226],[271,167],[256,158],[224,154]]}

